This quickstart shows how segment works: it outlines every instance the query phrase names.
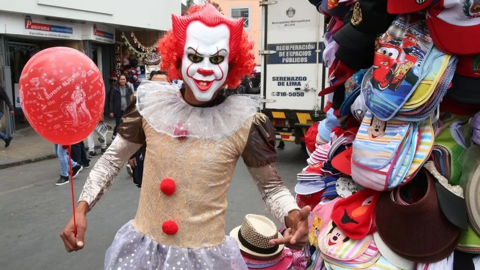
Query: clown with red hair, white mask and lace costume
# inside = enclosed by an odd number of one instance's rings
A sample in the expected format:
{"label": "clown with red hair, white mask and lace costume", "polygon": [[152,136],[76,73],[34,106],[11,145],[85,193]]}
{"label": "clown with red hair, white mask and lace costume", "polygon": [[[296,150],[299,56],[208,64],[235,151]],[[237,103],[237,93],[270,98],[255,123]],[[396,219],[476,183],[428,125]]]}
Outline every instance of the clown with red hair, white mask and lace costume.
{"label": "clown with red hair, white mask and lace costume", "polygon": [[308,241],[310,207],[297,207],[275,169],[275,129],[257,113],[261,100],[218,95],[224,84],[238,85],[255,65],[243,19],[226,18],[207,4],[172,20],[159,44],[162,69],[185,86],[140,85],[117,138],[83,187],[77,235],[73,217],[61,233],[67,250],[83,248],[86,213],[145,142],[137,214],[106,251],[106,270],[247,269],[237,242],[224,234],[227,189],[240,157],[267,208],[288,228],[270,244],[301,249]]}

